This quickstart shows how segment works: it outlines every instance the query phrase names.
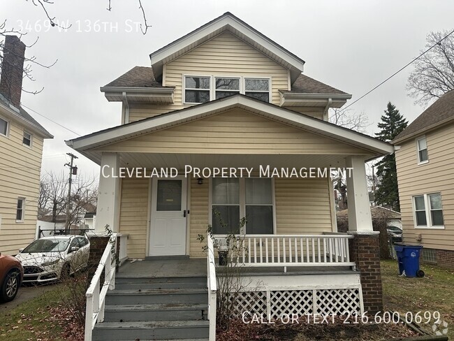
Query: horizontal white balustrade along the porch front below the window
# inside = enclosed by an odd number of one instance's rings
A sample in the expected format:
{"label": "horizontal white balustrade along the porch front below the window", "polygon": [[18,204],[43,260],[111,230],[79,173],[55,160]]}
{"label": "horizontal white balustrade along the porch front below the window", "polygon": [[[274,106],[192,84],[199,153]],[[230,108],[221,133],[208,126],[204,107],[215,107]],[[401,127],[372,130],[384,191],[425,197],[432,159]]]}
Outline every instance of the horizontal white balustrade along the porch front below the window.
{"label": "horizontal white balustrade along the porch front below the window", "polygon": [[[215,235],[219,245],[226,235]],[[235,258],[243,266],[355,266],[350,261],[353,235],[236,235]],[[233,238],[231,238],[233,239]],[[230,242],[232,242],[230,240]]]}

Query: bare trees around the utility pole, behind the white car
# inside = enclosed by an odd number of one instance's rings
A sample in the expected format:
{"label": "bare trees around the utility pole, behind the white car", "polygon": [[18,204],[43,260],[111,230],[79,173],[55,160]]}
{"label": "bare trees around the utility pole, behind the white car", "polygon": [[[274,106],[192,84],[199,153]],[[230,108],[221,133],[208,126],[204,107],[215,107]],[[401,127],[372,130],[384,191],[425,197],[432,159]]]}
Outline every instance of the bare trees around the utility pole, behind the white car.
{"label": "bare trees around the utility pole, behind the white car", "polygon": [[[98,186],[94,179],[78,177],[73,180],[70,198],[70,224],[80,224],[85,212],[96,207]],[[64,173],[56,175],[47,173],[41,179],[38,208],[41,215],[52,215],[52,222],[57,222],[57,217],[65,215],[68,207],[68,179]]]}

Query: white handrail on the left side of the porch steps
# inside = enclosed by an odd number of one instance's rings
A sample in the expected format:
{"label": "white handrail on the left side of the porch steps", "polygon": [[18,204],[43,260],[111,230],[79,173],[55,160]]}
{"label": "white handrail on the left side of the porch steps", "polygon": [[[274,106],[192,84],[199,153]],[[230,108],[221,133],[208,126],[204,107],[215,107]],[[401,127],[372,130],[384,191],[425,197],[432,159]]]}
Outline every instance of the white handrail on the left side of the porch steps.
{"label": "white handrail on the left side of the porch steps", "polygon": [[[117,236],[115,239],[117,240]],[[118,242],[118,240],[117,240]],[[115,250],[114,250],[115,251]],[[115,289],[115,259],[112,259],[112,242],[107,243],[98,268],[91,279],[90,286],[85,293],[87,305],[85,308],[85,341],[91,341],[91,333],[96,322],[104,321],[105,295],[108,290]],[[104,273],[104,282],[101,285],[101,276]]]}

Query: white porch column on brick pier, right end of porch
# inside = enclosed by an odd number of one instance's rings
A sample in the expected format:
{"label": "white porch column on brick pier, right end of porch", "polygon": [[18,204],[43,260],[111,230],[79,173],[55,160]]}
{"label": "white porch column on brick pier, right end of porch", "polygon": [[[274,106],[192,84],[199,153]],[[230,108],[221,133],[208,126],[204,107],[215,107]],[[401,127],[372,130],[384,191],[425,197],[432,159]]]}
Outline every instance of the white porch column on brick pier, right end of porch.
{"label": "white porch column on brick pier, right end of porch", "polygon": [[346,157],[346,167],[353,168],[351,177],[348,172],[346,173],[349,231],[371,233],[374,230],[370,215],[364,157]]}

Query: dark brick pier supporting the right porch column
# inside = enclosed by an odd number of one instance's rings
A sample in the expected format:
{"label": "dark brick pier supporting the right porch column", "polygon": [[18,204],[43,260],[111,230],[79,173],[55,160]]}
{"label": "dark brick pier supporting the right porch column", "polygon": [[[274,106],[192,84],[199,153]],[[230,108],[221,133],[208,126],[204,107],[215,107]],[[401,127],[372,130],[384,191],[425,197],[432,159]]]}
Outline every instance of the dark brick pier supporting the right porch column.
{"label": "dark brick pier supporting the right porch column", "polygon": [[364,310],[369,313],[383,311],[379,235],[352,234],[355,238],[349,240],[350,259],[360,271]]}

